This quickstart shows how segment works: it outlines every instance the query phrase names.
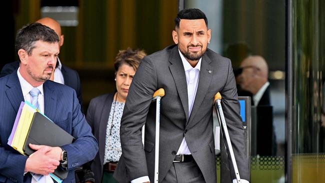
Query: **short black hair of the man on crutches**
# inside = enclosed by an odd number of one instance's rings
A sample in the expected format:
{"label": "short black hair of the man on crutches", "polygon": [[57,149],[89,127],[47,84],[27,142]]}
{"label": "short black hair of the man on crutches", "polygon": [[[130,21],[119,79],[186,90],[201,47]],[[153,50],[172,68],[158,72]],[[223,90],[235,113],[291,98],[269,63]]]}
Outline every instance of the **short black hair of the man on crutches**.
{"label": "short black hair of the man on crutches", "polygon": [[204,19],[207,27],[207,18],[201,10],[197,8],[182,9],[178,12],[175,18],[175,27],[179,28],[179,22],[181,19]]}

